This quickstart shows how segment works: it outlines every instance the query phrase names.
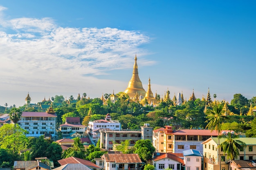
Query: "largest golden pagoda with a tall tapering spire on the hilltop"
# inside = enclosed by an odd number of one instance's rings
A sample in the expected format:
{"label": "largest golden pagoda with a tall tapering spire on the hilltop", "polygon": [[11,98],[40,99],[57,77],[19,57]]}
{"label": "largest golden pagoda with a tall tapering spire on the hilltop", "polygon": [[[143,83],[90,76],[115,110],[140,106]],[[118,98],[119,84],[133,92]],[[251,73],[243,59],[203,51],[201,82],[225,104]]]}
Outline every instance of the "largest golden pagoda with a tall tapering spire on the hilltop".
{"label": "largest golden pagoda with a tall tapering spire on the hilltop", "polygon": [[138,65],[137,65],[137,56],[135,55],[135,62],[133,65],[133,72],[132,72],[132,78],[130,79],[128,83],[128,87],[124,91],[130,98],[134,98],[135,94],[139,96],[142,96],[143,98],[146,96],[146,91],[142,87],[142,83],[139,79],[139,73],[138,73]]}

